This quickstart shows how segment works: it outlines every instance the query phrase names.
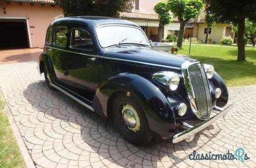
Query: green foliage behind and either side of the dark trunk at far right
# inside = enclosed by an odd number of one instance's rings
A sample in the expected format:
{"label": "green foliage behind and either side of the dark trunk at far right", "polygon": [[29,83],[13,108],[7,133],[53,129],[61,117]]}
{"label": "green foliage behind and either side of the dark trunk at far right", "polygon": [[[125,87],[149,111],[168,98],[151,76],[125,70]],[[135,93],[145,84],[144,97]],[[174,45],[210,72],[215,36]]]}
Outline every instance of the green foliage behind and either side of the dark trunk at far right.
{"label": "green foliage behind and either side of the dark trunk at far right", "polygon": [[[232,32],[238,33],[238,25],[232,23]],[[256,22],[250,21],[248,18],[245,19],[245,37],[255,46],[254,39],[256,38]]]}

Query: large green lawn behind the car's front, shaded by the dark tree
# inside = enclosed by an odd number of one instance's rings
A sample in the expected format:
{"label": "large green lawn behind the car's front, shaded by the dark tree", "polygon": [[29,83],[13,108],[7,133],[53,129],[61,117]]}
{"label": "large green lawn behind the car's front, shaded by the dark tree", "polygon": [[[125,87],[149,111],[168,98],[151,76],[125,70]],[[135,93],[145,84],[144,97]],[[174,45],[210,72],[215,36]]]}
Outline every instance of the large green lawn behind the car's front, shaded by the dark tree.
{"label": "large green lawn behind the car's front, shaded by the dark tree", "polygon": [[[237,62],[237,47],[191,45],[190,57],[212,64],[229,87],[256,84],[256,49],[246,48],[246,63]],[[188,55],[189,45],[178,54]]]}

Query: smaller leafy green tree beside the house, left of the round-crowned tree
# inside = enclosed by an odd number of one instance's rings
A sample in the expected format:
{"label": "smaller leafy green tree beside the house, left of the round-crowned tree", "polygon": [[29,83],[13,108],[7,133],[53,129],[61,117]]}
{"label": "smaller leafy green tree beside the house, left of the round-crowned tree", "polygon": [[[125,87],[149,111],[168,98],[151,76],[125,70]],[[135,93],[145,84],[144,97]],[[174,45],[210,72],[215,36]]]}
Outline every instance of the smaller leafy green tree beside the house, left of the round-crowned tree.
{"label": "smaller leafy green tree beside the house, left of the round-crowned tree", "polygon": [[164,38],[165,25],[168,25],[172,17],[169,13],[167,2],[159,2],[154,6],[154,11],[159,15],[159,28],[158,28],[158,41],[160,42]]}

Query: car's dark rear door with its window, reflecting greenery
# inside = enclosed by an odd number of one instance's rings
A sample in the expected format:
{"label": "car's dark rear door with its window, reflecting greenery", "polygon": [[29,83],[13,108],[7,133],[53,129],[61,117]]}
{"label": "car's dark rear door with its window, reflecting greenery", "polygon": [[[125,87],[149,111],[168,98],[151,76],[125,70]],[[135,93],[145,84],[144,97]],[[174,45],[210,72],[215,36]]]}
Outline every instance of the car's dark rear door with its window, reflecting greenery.
{"label": "car's dark rear door with its window, reflecting greenery", "polygon": [[54,42],[53,46],[48,49],[49,56],[52,60],[53,68],[55,71],[55,82],[64,85],[67,83],[67,49],[68,43],[68,28],[67,27],[54,27]]}

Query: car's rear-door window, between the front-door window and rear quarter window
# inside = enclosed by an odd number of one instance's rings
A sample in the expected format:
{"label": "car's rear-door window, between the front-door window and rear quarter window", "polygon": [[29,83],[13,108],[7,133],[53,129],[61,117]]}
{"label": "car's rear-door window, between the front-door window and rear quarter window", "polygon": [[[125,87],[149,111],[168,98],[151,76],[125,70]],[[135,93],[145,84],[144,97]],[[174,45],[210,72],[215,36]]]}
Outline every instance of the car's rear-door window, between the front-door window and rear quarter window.
{"label": "car's rear-door window, between the front-door window and rear quarter window", "polygon": [[65,47],[68,40],[67,33],[67,28],[54,28],[54,43],[58,46]]}

